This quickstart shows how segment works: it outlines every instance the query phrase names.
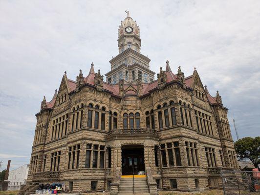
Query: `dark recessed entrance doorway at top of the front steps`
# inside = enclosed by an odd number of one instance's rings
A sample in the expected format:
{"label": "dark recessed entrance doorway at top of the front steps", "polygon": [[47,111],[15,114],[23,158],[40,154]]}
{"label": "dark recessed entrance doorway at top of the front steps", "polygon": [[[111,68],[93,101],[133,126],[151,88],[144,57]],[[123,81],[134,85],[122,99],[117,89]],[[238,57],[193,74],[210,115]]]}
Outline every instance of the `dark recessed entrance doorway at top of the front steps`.
{"label": "dark recessed entrance doorway at top of the front steps", "polygon": [[122,146],[122,175],[138,175],[145,171],[144,147],[142,145]]}

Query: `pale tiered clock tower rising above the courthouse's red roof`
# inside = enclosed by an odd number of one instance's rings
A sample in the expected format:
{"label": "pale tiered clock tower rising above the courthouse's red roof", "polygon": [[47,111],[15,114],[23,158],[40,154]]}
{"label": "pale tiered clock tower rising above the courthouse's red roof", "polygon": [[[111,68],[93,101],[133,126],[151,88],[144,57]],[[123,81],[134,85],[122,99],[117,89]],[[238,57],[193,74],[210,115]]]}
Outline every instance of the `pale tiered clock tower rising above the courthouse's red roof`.
{"label": "pale tiered clock tower rising above the courthouse's red roof", "polygon": [[111,59],[111,70],[105,74],[107,82],[118,84],[119,80],[134,83],[137,79],[142,83],[154,80],[154,72],[150,70],[150,59],[141,54],[140,29],[126,11],[127,17],[118,28],[118,50],[119,54]]}

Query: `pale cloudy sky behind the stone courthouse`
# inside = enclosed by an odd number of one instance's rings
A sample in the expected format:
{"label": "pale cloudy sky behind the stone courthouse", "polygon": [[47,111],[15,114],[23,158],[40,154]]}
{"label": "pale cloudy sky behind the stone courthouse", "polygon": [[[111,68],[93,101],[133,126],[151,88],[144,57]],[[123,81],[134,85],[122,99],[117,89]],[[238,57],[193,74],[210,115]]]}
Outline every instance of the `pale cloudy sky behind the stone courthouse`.
{"label": "pale cloudy sky behind the stone courthouse", "polygon": [[65,71],[109,71],[125,10],[152,71],[167,59],[186,77],[196,67],[229,109],[234,140],[233,118],[240,138],[260,136],[259,0],[0,0],[0,171],[29,163],[35,114]]}

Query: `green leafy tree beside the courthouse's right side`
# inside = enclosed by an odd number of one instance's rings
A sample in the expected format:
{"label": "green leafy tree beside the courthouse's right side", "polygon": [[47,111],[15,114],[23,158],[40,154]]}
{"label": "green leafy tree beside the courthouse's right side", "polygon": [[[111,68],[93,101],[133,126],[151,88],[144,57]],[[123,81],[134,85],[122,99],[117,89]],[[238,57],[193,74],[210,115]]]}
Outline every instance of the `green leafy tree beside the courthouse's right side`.
{"label": "green leafy tree beside the courthouse's right side", "polygon": [[257,168],[260,163],[260,137],[244,137],[235,142],[238,157],[249,159]]}

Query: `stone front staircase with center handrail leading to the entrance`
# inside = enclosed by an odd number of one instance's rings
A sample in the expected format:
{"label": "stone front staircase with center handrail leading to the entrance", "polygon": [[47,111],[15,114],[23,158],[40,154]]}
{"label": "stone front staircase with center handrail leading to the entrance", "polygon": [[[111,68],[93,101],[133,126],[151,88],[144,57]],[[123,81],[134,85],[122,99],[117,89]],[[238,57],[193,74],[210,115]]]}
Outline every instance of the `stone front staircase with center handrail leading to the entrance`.
{"label": "stone front staircase with center handrail leading to the entrance", "polygon": [[150,195],[146,177],[134,178],[134,191],[133,178],[121,178],[118,195]]}

